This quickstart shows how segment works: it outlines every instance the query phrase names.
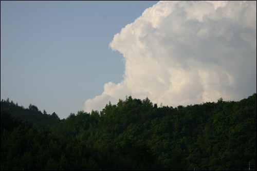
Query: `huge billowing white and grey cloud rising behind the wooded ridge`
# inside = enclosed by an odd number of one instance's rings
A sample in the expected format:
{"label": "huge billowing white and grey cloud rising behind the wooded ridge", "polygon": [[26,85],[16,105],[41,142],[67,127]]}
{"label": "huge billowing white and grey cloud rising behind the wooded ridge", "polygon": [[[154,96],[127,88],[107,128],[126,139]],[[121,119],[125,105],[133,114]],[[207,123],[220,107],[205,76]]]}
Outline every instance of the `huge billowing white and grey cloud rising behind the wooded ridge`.
{"label": "huge billowing white and grey cloud rising behind the wooded ridge", "polygon": [[256,1],[161,1],[114,35],[124,79],[84,110],[125,96],[169,106],[240,100],[256,92]]}

